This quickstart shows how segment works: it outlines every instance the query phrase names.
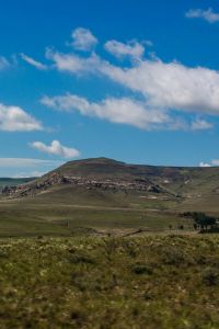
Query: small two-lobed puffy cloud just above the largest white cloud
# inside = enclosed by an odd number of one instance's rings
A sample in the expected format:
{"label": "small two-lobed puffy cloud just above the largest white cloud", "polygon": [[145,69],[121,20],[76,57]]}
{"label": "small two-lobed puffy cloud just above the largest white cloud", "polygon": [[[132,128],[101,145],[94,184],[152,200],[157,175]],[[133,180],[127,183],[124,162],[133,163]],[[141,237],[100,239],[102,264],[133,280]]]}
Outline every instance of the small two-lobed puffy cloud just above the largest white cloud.
{"label": "small two-lobed puffy cloud just above the largest white cloud", "polygon": [[141,58],[145,53],[145,47],[136,41],[124,44],[112,39],[106,42],[104,47],[108,53],[113,54],[117,58],[123,58],[124,56]]}

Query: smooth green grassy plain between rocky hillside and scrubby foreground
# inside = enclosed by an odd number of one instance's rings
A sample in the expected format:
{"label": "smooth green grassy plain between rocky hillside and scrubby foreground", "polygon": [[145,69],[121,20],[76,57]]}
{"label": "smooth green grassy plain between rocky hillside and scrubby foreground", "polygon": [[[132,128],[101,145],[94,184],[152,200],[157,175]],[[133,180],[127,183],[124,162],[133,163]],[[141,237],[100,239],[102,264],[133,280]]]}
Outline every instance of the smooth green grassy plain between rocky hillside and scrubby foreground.
{"label": "smooth green grassy plain between rocky hillside and scrubby foreground", "polygon": [[[84,195],[77,193],[70,197],[45,193],[37,197],[0,202],[0,236],[70,236],[76,228],[93,228],[104,231],[123,231],[136,229],[169,230],[184,225],[191,229],[193,223],[175,213],[152,207],[151,201],[141,201],[139,206],[120,203],[120,194]],[[117,203],[115,198],[117,197]],[[130,200],[130,195],[126,196]],[[132,198],[131,198],[132,201]]]}

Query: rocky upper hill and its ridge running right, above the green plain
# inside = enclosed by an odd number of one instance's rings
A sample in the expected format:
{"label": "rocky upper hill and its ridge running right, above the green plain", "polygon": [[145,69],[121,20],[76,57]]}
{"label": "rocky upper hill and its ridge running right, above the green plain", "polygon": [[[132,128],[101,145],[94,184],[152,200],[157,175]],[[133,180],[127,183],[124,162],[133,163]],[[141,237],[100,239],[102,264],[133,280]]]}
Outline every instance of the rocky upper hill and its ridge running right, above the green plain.
{"label": "rocky upper hill and its ridge running right, above the green plain", "polygon": [[42,192],[57,194],[59,189],[64,193],[65,186],[68,189],[80,186],[84,191],[143,192],[149,197],[155,195],[154,197],[189,200],[205,195],[219,196],[217,167],[128,164],[107,158],[69,161],[34,181],[20,182],[21,184],[19,181],[9,180],[8,186],[3,189],[3,195],[21,197]]}

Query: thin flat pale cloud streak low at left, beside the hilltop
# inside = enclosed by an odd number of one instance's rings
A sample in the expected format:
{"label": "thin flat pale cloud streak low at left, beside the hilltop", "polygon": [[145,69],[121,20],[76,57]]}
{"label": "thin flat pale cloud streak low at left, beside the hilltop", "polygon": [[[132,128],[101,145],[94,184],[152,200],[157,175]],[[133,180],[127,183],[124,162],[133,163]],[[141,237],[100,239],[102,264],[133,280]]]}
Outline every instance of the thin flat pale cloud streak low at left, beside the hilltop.
{"label": "thin flat pale cloud streak low at left, beside the hilltop", "polygon": [[59,166],[60,161],[30,158],[0,158],[0,168],[32,168],[35,166]]}

